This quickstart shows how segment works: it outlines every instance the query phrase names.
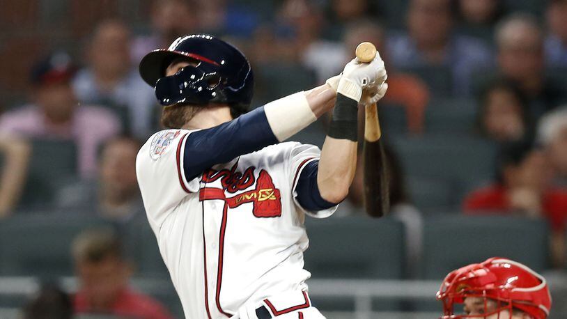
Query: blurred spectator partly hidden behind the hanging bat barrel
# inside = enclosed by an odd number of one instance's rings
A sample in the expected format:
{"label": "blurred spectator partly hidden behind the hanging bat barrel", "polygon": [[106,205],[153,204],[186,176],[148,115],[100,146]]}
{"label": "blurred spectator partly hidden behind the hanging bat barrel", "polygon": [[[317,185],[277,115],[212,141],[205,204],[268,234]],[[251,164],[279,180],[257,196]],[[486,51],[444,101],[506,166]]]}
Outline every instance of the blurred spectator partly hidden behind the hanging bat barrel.
{"label": "blurred spectator partly hidden behind the hanging bat barrel", "polygon": [[[405,226],[407,265],[410,274],[415,274],[414,272],[417,269],[412,268],[412,266],[417,267],[421,257],[421,233],[423,228],[421,212],[412,205],[407,196],[400,160],[389,147],[385,147],[385,153],[389,173],[390,211],[388,214],[401,221]],[[337,217],[352,214],[366,215],[366,212],[364,212],[364,167],[362,157],[364,155],[361,152],[357,157],[357,171],[350,185],[348,197],[339,205],[339,209],[334,214]]]}

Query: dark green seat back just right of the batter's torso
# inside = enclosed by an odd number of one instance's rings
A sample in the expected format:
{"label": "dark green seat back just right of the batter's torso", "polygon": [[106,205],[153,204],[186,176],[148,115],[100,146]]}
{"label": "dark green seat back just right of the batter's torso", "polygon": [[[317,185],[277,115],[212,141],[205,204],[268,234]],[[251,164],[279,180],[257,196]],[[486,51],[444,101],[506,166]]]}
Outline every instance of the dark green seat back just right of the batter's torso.
{"label": "dark green seat back just right of the batter's torso", "polygon": [[401,279],[403,224],[395,219],[307,217],[305,269],[313,278]]}

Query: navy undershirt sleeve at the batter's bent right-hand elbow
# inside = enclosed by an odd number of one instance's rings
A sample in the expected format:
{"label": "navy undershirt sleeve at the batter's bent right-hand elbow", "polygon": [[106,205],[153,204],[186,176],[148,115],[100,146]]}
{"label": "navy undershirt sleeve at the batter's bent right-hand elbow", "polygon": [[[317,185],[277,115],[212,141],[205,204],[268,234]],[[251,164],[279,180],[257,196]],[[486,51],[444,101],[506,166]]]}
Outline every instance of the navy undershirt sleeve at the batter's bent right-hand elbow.
{"label": "navy undershirt sleeve at the batter's bent right-hand elbow", "polygon": [[297,202],[302,205],[302,208],[311,211],[326,210],[336,206],[338,203],[329,203],[325,201],[319,192],[317,185],[317,172],[319,169],[319,161],[313,161],[306,164],[302,170],[299,179],[297,180]]}

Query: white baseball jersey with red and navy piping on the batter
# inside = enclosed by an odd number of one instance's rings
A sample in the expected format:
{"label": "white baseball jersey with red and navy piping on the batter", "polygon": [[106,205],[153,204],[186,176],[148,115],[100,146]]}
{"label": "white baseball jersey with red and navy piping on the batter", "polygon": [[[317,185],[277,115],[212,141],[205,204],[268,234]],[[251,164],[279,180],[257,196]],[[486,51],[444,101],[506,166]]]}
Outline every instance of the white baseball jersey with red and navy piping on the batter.
{"label": "white baseball jersey with red and navy piping on the batter", "polygon": [[306,290],[304,213],[322,218],[336,207],[306,212],[294,189],[320,150],[279,143],[186,180],[183,156],[192,132],[157,132],[136,162],[148,220],[185,316],[227,318],[244,303]]}

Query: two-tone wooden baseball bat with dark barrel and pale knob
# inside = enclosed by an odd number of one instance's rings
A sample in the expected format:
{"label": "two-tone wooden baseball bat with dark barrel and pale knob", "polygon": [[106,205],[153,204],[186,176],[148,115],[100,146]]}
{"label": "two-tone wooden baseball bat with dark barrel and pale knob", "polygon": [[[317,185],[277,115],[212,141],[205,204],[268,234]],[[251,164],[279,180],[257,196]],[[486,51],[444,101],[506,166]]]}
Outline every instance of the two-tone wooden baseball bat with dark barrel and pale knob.
{"label": "two-tone wooden baseball bat with dark barrel and pale knob", "polygon": [[[371,42],[362,42],[356,49],[357,58],[368,63],[377,54]],[[382,132],[375,103],[365,105],[364,144],[362,148],[364,166],[364,206],[371,217],[382,217],[390,209],[389,176],[387,157],[382,145]]]}

